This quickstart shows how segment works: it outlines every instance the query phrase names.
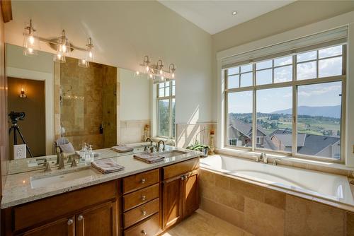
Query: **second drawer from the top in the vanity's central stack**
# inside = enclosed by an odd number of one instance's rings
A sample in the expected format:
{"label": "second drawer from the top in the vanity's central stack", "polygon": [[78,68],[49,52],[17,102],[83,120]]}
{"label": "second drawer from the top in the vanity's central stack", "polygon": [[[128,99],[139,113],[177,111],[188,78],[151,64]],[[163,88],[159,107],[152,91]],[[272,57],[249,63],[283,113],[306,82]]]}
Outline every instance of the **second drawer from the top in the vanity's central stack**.
{"label": "second drawer from the top in the vanity's central stack", "polygon": [[159,197],[159,184],[154,184],[145,189],[141,189],[131,194],[123,196],[124,211],[140,206],[148,201],[157,199]]}

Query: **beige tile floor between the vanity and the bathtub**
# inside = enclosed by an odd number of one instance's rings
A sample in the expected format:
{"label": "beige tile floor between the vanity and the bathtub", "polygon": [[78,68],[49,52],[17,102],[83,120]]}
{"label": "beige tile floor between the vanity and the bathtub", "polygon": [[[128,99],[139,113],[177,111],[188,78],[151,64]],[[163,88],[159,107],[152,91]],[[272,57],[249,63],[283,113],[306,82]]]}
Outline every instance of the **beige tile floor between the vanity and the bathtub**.
{"label": "beige tile floor between the vanity and the bathtub", "polygon": [[199,209],[162,236],[251,236],[251,234]]}

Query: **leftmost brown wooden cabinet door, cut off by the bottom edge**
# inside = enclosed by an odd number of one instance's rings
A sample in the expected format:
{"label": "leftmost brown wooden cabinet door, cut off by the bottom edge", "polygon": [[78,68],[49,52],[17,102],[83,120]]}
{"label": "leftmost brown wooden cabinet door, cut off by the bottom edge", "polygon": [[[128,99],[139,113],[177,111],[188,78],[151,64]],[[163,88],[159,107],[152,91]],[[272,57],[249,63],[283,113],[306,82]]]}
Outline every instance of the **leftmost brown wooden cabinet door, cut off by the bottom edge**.
{"label": "leftmost brown wooden cabinet door, cut off by the bottom edge", "polygon": [[74,236],[75,224],[74,216],[70,218],[62,218],[60,220],[42,225],[38,228],[25,232],[26,236]]}

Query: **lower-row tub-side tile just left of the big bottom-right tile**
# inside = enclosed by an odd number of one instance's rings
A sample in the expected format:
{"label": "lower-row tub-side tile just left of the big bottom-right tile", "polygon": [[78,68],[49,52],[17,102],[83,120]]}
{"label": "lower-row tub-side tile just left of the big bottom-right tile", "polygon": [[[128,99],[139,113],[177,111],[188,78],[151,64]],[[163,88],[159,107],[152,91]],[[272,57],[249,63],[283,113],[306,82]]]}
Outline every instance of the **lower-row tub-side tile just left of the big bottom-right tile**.
{"label": "lower-row tub-side tile just left of the big bottom-right tile", "polygon": [[245,199],[244,229],[254,235],[284,235],[285,211],[255,201]]}

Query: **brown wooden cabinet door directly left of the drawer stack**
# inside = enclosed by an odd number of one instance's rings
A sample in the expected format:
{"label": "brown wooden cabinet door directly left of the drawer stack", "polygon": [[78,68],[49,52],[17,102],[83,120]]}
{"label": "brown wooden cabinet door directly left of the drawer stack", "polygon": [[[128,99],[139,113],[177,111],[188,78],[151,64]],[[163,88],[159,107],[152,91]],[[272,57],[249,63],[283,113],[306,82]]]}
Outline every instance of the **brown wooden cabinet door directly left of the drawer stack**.
{"label": "brown wooden cabinet door directly left of the drawer stack", "polygon": [[118,213],[114,202],[104,203],[76,215],[76,235],[118,235]]}

